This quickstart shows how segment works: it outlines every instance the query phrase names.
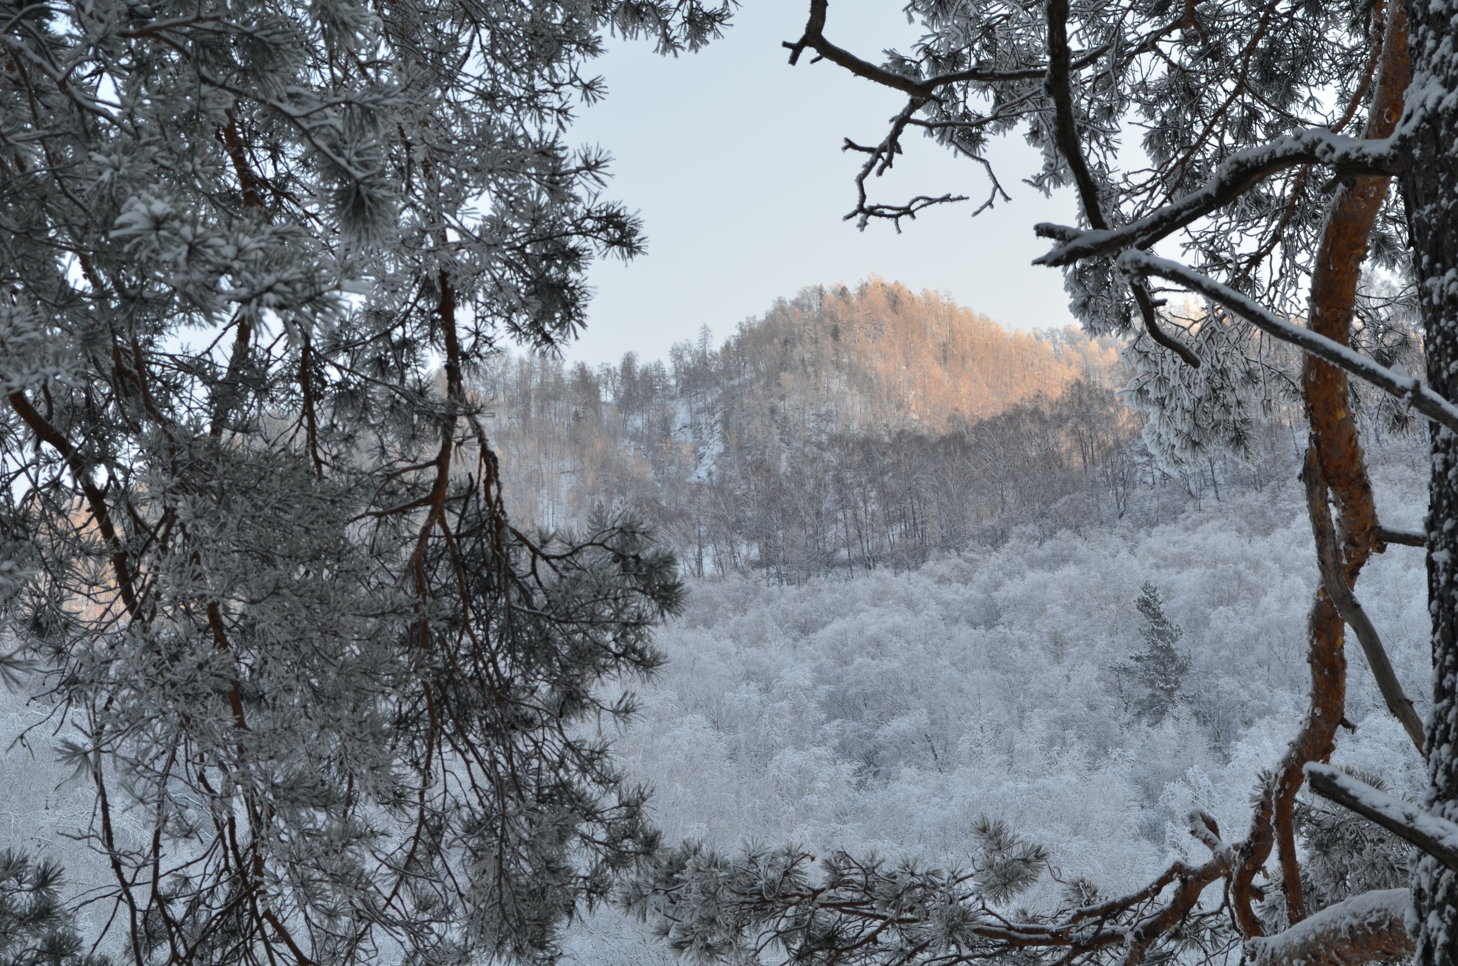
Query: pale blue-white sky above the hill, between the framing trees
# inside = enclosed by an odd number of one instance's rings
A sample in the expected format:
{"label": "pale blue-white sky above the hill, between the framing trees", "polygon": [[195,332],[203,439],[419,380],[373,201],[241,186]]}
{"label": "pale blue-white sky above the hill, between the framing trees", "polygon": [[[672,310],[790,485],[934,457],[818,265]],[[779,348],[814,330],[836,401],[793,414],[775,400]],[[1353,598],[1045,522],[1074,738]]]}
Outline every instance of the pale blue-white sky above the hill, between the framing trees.
{"label": "pale blue-white sky above the hill, between the framing trees", "polygon": [[[981,166],[910,134],[875,193],[974,201],[903,222],[901,235],[889,223],[857,232],[841,220],[860,165],[840,152],[843,139],[878,143],[904,98],[828,61],[790,67],[780,42],[799,38],[805,15],[798,0],[746,0],[728,35],[698,54],[662,58],[615,41],[596,61],[608,96],[582,111],[574,140],[612,153],[608,194],[642,215],[649,247],[627,266],[592,270],[589,328],[569,359],[609,362],[627,350],[663,359],[703,324],[722,340],[776,298],[870,274],[940,289],[1009,327],[1072,322],[1059,271],[1028,263],[1047,250],[1032,225],[1072,223],[1073,200],[1021,182],[1038,165],[1021,137],[993,155],[1012,204],[970,217],[989,190]],[[827,35],[879,63],[881,50],[905,50],[913,32],[900,3],[837,0]]]}

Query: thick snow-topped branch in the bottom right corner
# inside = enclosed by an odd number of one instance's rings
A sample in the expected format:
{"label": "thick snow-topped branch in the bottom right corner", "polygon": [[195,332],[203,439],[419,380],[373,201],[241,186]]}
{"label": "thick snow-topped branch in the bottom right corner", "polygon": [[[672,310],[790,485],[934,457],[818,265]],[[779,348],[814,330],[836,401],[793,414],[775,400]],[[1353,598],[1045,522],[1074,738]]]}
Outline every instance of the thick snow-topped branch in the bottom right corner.
{"label": "thick snow-topped branch in the bottom right corner", "polygon": [[1284,932],[1250,940],[1250,966],[1360,966],[1394,960],[1413,951],[1407,935],[1406,889],[1381,889],[1352,896],[1302,919]]}

